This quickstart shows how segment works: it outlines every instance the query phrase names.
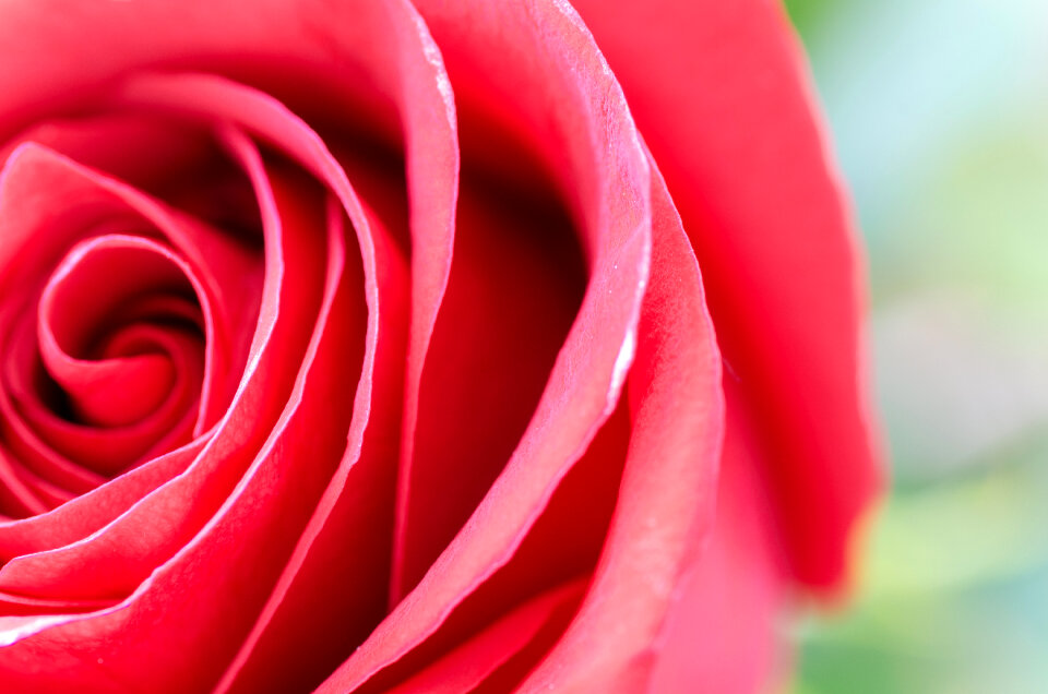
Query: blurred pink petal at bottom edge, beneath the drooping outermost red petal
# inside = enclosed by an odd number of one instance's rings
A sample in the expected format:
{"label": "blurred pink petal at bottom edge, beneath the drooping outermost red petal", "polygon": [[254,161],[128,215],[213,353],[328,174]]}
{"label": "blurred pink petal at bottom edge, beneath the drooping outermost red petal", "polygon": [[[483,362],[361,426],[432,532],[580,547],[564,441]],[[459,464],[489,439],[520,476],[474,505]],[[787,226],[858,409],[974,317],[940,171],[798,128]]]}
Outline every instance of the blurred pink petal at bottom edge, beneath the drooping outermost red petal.
{"label": "blurred pink petal at bottom edge, beneath the drooping outermost red petal", "polygon": [[781,665],[787,558],[763,479],[761,432],[729,375],[725,397],[716,517],[701,554],[678,579],[668,619],[644,663],[647,691],[656,694],[750,694],[767,687]]}

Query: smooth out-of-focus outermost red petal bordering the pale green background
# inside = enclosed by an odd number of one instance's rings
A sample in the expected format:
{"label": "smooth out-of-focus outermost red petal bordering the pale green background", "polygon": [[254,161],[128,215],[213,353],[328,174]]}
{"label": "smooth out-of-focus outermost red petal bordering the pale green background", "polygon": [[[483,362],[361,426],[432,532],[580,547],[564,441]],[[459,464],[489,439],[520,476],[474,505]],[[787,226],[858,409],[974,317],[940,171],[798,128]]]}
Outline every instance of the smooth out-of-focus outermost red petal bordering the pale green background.
{"label": "smooth out-of-focus outermost red petal bordering the pale green background", "polygon": [[788,25],[771,0],[577,0],[702,267],[793,574],[830,588],[878,486],[862,274]]}

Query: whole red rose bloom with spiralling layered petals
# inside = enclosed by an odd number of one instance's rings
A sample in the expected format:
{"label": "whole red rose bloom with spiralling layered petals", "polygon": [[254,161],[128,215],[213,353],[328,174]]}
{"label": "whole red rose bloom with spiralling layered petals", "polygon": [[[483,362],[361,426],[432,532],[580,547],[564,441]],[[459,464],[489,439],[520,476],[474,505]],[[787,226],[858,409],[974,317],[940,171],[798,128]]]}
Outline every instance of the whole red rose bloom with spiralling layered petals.
{"label": "whole red rose bloom with spiralling layered petals", "polygon": [[5,0],[0,142],[3,692],[751,692],[843,595],[776,3]]}

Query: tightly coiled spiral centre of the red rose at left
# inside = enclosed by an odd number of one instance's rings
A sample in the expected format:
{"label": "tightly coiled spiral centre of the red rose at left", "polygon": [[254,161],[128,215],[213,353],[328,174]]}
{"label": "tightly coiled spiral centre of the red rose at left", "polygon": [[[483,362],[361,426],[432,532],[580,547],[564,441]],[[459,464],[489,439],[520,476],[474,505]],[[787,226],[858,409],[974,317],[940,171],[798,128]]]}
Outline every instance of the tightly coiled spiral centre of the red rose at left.
{"label": "tightly coiled spiral centre of the red rose at left", "polygon": [[[106,265],[114,262],[118,267],[130,262],[130,266],[148,272],[135,275],[126,270],[119,275],[130,283],[108,282],[105,284],[109,291],[90,291],[86,287],[94,287],[99,279],[96,273],[102,272],[103,277],[115,274],[114,266]],[[133,286],[134,278],[139,286]],[[158,284],[157,280],[163,282]],[[211,300],[195,271],[169,248],[142,237],[129,236],[103,236],[81,243],[62,261],[45,287],[37,324],[34,326],[29,320],[23,321],[24,332],[37,328],[41,343],[39,355],[36,340],[26,336],[19,338],[15,334],[10,347],[12,354],[5,385],[26,421],[56,452],[104,475],[119,474],[132,460],[148,459],[182,445],[190,440],[193,424],[202,414],[199,400],[205,371],[204,347],[203,336],[196,325],[162,327],[156,323],[136,323],[133,313],[121,312],[119,316],[116,315],[118,309],[134,306],[135,292],[148,290],[150,285],[152,289],[165,294],[178,291],[203,297],[202,303],[210,311]],[[84,306],[83,298],[88,296],[91,304]],[[172,306],[168,302],[148,303],[156,309]],[[174,307],[179,310],[183,308],[181,302]],[[193,323],[200,320],[199,308],[195,308],[195,316],[190,314]],[[165,315],[176,320],[182,318],[178,313]],[[116,327],[124,319],[129,320],[127,326]],[[103,334],[98,334],[99,330]],[[147,345],[148,351],[133,355],[130,359],[87,360],[71,357],[59,345],[62,342],[80,354],[85,340],[103,337],[109,347],[119,349],[120,343],[133,345],[128,342],[130,338],[140,345]],[[46,378],[40,357],[43,367],[49,369],[50,375],[71,400],[74,414],[85,407],[105,410],[105,400],[117,400],[114,403],[116,407],[122,399],[129,411],[124,417],[130,420],[109,421],[106,426],[105,421],[87,419],[91,415],[88,410],[81,412],[76,421],[70,421],[51,410],[39,397],[34,397],[34,388],[26,383],[28,380]],[[153,360],[146,364],[158,363],[164,367],[160,372],[164,381],[152,386],[156,391],[152,403],[142,399],[141,387],[148,385],[143,378],[145,374],[134,368],[128,373],[121,371],[121,367],[133,367],[135,362],[141,364],[146,358]],[[37,379],[33,379],[33,375]],[[139,380],[132,387],[126,379],[134,376]],[[157,453],[151,455],[151,450]]]}

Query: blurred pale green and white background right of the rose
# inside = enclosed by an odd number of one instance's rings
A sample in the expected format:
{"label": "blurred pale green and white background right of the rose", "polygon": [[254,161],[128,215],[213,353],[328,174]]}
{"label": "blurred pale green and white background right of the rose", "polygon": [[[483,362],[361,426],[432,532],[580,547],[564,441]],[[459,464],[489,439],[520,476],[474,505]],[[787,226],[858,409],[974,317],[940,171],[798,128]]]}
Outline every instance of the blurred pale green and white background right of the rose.
{"label": "blurred pale green and white background right of the rose", "polygon": [[791,692],[1048,693],[1048,2],[786,4],[869,249],[893,475]]}

